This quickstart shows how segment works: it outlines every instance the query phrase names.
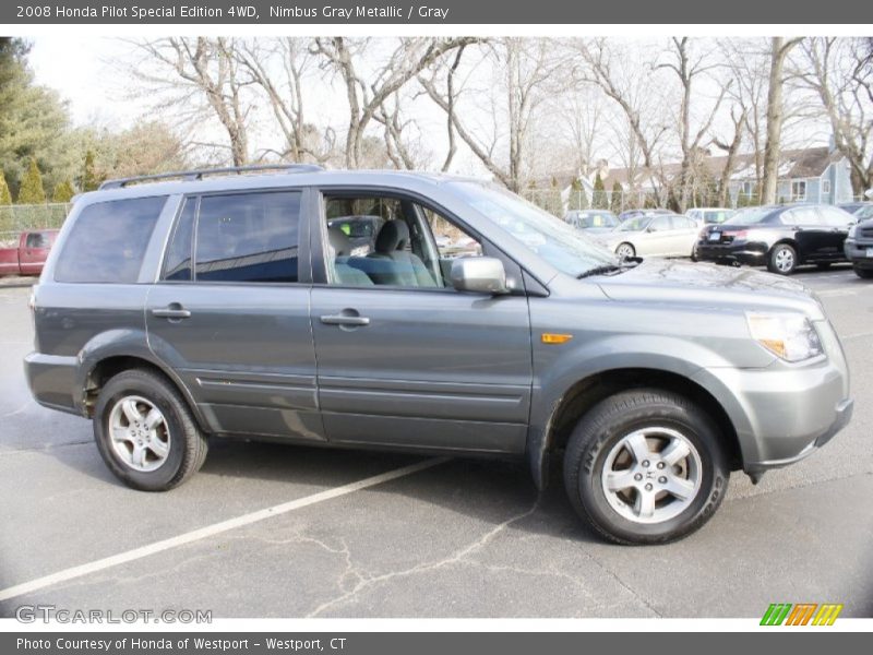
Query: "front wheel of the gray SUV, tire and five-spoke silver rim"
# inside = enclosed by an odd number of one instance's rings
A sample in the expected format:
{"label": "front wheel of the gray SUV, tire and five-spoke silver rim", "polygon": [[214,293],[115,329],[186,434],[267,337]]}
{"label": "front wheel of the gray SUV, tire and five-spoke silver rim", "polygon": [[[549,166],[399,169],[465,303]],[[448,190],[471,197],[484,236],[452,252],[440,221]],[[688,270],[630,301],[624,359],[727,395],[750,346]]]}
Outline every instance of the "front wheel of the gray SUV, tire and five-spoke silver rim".
{"label": "front wheel of the gray SUV, tire and five-spoke silver rim", "polygon": [[579,420],[564,456],[576,512],[619,544],[666,544],[699,528],[727,492],[720,432],[686,398],[626,391]]}

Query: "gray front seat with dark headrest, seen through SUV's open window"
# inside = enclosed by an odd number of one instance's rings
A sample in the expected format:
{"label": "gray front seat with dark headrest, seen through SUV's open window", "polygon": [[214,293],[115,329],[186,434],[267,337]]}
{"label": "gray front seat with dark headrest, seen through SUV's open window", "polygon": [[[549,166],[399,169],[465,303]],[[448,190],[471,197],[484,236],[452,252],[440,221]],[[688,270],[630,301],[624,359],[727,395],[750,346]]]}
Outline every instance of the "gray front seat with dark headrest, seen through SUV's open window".
{"label": "gray front seat with dark headrest, seen through SUV's open window", "polygon": [[375,252],[363,259],[349,261],[375,284],[405,287],[435,287],[436,282],[424,262],[406,250],[409,243],[409,227],[403,221],[388,221],[375,238]]}

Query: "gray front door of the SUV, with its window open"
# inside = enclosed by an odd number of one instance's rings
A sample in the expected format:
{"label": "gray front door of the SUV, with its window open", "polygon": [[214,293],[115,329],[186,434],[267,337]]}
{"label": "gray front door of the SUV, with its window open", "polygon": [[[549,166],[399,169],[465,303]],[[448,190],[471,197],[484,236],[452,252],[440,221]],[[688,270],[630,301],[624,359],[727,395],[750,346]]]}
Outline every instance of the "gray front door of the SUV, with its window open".
{"label": "gray front door of the SUV, with its window open", "polygon": [[[352,193],[366,196],[364,190]],[[449,239],[436,253],[420,205],[378,200],[379,206],[396,207],[383,215],[381,230],[410,235],[411,243],[395,239],[390,246],[420,261],[433,284],[375,284],[366,275],[338,282],[332,269],[366,270],[371,262],[340,258],[337,247],[326,246],[343,238],[327,234],[335,198],[325,191],[312,233],[312,331],[327,438],[392,448],[524,452],[533,381],[526,296],[521,288],[505,296],[456,291],[442,274],[450,266],[438,260],[493,254],[492,247],[444,221],[433,231]],[[392,226],[398,221],[406,227]],[[376,247],[386,241],[380,233]],[[385,257],[381,251],[369,255]],[[512,273],[521,279],[521,270]]]}

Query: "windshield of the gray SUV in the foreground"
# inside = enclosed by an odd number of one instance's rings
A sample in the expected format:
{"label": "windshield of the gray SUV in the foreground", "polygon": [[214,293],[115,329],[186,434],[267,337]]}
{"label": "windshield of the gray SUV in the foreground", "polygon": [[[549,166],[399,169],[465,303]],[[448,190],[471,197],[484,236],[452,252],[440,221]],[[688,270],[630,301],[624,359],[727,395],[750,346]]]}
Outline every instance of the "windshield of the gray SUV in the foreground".
{"label": "windshield of the gray SUV in the foreground", "polygon": [[615,265],[609,250],[563,221],[499,187],[478,182],[449,182],[464,201],[531,252],[569,275]]}

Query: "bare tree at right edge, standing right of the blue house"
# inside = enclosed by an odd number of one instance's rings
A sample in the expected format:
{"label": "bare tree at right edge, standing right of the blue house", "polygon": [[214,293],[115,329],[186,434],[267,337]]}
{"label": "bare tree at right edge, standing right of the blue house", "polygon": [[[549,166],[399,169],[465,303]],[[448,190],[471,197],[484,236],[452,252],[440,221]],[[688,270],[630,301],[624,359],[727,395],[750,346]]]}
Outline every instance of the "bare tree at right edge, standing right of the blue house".
{"label": "bare tree at right edge, standing right of the blue house", "polygon": [[794,74],[821,102],[861,195],[873,187],[873,55],[862,38],[809,38],[801,50]]}

